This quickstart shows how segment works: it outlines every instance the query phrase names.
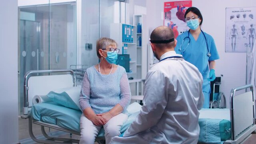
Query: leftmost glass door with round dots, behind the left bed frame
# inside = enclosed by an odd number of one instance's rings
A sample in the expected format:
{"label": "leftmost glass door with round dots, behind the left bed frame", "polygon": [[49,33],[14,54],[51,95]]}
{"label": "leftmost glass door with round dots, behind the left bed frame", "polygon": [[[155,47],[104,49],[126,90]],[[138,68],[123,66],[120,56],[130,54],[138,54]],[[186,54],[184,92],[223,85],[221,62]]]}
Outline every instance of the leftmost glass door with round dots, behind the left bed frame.
{"label": "leftmost glass door with round dots, behind the left bed frame", "polygon": [[[23,95],[23,78],[29,70],[42,70],[44,54],[40,42],[40,22],[20,20],[19,94]],[[20,96],[20,106],[23,97]]]}

